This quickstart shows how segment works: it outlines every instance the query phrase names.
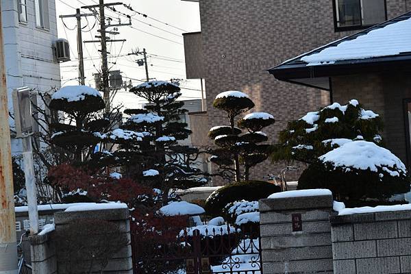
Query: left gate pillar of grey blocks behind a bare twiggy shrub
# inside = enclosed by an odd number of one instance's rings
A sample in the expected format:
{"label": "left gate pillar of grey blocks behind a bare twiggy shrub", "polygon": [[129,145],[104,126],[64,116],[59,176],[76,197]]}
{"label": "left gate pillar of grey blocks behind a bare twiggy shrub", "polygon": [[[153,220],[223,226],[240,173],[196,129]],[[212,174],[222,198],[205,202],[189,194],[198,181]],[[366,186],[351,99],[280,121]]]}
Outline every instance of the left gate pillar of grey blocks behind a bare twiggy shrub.
{"label": "left gate pillar of grey blocks behind a bare twiggy shrub", "polygon": [[[129,225],[129,211],[127,208],[111,209],[111,210],[91,210],[91,211],[78,211],[78,212],[56,212],[54,214],[55,232],[58,233],[65,225],[69,225],[71,221],[76,219],[99,219],[104,221],[110,221],[119,227],[121,233],[127,235],[128,243],[119,252],[113,254],[110,258],[108,265],[102,272],[88,272],[88,273],[119,273],[119,274],[132,274],[132,247]],[[96,232],[98,233],[98,232]],[[96,242],[96,245],[104,246],[105,242]],[[57,249],[57,265],[58,273],[66,274],[66,253]],[[71,274],[75,274],[70,272]],[[81,272],[83,273],[83,272]]]}

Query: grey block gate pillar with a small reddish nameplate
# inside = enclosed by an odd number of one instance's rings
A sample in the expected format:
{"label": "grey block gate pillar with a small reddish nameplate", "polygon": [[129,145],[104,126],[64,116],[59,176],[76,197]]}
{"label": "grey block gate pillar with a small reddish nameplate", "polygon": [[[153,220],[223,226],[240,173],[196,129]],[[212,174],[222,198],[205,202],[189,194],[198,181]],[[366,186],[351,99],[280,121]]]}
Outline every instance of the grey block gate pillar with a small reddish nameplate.
{"label": "grey block gate pillar with a small reddish nameplate", "polygon": [[[264,274],[333,273],[332,203],[331,195],[260,200]],[[301,214],[299,232],[292,214]]]}

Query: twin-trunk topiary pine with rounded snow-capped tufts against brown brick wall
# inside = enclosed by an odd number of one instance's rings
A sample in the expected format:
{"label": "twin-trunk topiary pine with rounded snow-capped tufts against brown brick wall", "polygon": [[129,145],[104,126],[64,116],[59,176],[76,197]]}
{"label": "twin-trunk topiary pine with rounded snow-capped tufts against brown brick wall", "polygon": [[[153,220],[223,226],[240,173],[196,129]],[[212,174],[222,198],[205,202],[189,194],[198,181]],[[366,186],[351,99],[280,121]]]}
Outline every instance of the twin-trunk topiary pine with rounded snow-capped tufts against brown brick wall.
{"label": "twin-trunk topiary pine with rounded snow-capped tufts against brown brick wall", "polygon": [[[208,136],[214,139],[219,147],[212,151],[214,155],[210,160],[219,166],[223,177],[227,174],[231,177],[230,174],[234,172],[236,182],[240,182],[241,179],[247,181],[251,167],[268,158],[269,146],[258,144],[268,140],[261,129],[272,125],[275,122],[274,117],[265,112],[247,114],[238,121],[238,127],[235,127],[236,116],[254,107],[253,101],[240,91],[220,93],[216,96],[213,105],[214,108],[227,112],[229,125],[210,129]],[[241,129],[247,129],[247,133],[240,136]],[[241,176],[240,164],[244,166],[243,176]]]}

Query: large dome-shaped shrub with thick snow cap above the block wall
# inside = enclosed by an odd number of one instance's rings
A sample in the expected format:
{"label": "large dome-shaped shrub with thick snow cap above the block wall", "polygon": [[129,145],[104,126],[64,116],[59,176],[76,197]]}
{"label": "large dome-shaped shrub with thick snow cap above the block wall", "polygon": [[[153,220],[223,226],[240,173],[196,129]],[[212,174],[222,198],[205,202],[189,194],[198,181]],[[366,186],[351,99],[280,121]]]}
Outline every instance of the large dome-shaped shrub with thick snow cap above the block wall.
{"label": "large dome-shaped shrub with thick snow cap above the block wall", "polygon": [[328,188],[334,199],[350,207],[406,203],[390,197],[410,191],[410,178],[406,166],[388,149],[357,140],[310,164],[298,188]]}

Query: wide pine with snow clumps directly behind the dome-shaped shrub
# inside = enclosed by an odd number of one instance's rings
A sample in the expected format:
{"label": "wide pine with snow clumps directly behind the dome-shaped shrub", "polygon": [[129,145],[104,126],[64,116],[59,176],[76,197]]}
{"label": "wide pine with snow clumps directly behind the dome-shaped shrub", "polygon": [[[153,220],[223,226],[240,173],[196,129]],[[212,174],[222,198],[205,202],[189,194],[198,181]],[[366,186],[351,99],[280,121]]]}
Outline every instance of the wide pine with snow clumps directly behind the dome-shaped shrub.
{"label": "wide pine with snow clumps directly behind the dome-shaped shrub", "polygon": [[333,103],[288,123],[272,147],[271,159],[297,160],[310,164],[319,156],[351,140],[384,145],[382,119],[353,99],[347,105]]}

